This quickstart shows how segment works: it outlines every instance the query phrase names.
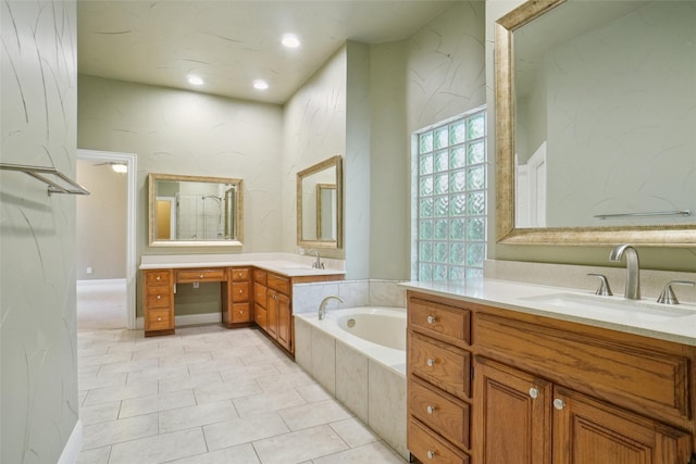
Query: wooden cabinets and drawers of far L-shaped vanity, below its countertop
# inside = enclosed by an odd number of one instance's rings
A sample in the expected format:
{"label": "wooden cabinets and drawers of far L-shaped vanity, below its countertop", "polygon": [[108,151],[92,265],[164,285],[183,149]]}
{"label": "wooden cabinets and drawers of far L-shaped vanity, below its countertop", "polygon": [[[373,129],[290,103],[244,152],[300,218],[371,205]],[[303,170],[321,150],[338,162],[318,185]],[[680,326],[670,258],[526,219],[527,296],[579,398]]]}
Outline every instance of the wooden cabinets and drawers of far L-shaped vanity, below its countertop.
{"label": "wooden cabinets and drawers of far L-shaped vanity, below its countertop", "polygon": [[336,271],[293,268],[291,274],[253,264],[142,269],[145,336],[175,333],[176,284],[221,283],[222,321],[227,328],[259,326],[289,355],[293,341],[293,285],[343,280]]}

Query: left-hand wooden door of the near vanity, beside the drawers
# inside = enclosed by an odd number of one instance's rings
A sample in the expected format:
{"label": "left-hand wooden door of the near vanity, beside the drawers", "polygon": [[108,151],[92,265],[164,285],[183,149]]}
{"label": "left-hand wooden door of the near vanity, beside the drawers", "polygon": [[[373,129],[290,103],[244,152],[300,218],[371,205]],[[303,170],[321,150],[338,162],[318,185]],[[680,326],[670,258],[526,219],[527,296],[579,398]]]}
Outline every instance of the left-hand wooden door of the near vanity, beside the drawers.
{"label": "left-hand wooden door of the near vanity, beside the drawers", "polygon": [[[476,356],[474,422],[475,462],[549,464],[551,457],[551,385],[547,380]],[[573,461],[573,463],[611,461]]]}

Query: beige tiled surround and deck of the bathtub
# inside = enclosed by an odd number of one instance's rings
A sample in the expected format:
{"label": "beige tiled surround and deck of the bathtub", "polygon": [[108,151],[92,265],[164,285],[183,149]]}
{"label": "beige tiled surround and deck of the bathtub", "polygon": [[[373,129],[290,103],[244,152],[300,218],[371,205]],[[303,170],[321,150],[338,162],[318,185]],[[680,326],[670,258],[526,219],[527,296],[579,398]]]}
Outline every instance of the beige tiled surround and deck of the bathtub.
{"label": "beige tiled surround and deck of the bathtub", "polygon": [[[339,326],[341,317],[373,313],[395,317],[382,330],[406,339],[406,309],[363,306],[295,314],[295,361],[405,459],[406,351],[356,337]],[[400,321],[399,321],[400,319]],[[360,322],[358,322],[360,324]]]}

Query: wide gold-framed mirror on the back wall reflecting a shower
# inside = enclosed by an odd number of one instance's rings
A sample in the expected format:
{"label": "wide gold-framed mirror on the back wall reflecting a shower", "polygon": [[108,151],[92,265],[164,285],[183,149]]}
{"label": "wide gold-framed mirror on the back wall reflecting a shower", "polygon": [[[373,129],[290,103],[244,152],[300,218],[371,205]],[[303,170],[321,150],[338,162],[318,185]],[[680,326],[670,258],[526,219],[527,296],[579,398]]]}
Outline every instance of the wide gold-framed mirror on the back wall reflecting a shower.
{"label": "wide gold-framed mirror on the back wall reflecting a shower", "polygon": [[151,247],[241,246],[241,179],[150,174]]}

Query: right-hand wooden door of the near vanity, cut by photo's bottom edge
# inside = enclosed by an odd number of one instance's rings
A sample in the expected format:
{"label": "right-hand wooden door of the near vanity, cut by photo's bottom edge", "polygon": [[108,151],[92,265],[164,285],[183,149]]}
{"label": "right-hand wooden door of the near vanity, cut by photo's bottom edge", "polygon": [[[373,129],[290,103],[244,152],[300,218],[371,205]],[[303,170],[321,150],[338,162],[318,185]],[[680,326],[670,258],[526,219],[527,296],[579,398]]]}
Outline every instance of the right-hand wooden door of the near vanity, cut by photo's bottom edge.
{"label": "right-hand wooden door of the near vanity, cut by photo's bottom edge", "polygon": [[554,464],[688,462],[691,436],[652,419],[556,387]]}

